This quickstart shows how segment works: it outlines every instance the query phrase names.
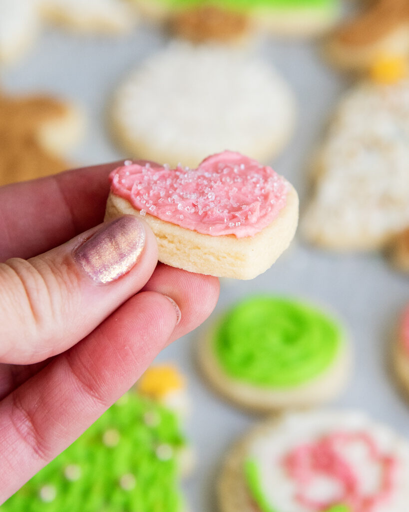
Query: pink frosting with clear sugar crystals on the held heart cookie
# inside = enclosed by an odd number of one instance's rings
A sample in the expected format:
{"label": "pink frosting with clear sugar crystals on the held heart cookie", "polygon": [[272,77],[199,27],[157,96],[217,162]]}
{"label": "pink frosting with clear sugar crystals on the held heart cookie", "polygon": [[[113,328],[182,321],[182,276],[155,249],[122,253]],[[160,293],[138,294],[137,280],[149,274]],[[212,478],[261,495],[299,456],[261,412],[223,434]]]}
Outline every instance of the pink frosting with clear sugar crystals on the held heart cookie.
{"label": "pink frosting with clear sugar crystals on the held heart cookie", "polygon": [[210,156],[197,169],[126,163],[110,174],[113,194],[142,215],[199,233],[251,237],[286,204],[288,182],[239,153]]}

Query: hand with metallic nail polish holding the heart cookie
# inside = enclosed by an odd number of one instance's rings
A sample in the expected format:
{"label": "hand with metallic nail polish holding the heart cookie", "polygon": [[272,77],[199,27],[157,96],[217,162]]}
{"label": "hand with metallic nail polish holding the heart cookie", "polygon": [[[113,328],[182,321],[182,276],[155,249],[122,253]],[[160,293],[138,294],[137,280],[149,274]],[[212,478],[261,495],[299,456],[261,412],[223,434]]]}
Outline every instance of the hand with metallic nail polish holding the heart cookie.
{"label": "hand with metallic nail polish holding the heart cookie", "polygon": [[0,504],[216,304],[136,218],[94,227],[115,167],[0,188]]}

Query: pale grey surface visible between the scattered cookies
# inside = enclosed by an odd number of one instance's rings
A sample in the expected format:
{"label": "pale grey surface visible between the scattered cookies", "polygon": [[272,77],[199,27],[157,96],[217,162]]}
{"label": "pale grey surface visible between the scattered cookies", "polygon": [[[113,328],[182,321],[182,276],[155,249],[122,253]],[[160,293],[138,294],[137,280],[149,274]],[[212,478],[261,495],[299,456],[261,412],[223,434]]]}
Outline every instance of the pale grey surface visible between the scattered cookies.
{"label": "pale grey surface visible between the scattered cookies", "polygon": [[[145,26],[129,36],[108,39],[49,29],[24,60],[3,71],[1,82],[7,91],[50,92],[77,101],[88,122],[86,136],[72,160],[79,164],[112,161],[125,155],[112,144],[107,130],[111,95],[128,71],[166,42],[160,31]],[[340,94],[350,86],[326,65],[318,50],[310,43],[274,40],[265,41],[259,50],[288,79],[298,98],[296,132],[284,153],[270,163],[296,186],[301,205],[308,194],[311,152]],[[387,364],[397,315],[409,300],[407,276],[391,270],[378,253],[326,253],[296,240],[257,279],[222,280],[214,314],[238,298],[260,291],[305,297],[336,311],[353,341],[355,366],[346,392],[335,404],[363,409],[409,436],[409,409],[395,389]],[[222,455],[257,418],[219,400],[203,383],[193,357],[198,335],[194,332],[181,338],[159,359],[177,361],[188,376],[192,397],[188,435],[197,464],[185,488],[191,510],[213,512]]]}

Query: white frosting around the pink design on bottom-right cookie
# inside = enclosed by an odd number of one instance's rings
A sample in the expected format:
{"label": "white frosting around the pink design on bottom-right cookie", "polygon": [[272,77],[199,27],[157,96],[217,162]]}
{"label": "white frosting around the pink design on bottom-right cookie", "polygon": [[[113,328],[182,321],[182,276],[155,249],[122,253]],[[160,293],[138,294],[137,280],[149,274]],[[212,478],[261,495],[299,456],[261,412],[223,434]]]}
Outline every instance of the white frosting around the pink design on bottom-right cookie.
{"label": "white frosting around the pink design on bottom-right cookie", "polygon": [[[390,500],[365,512],[407,512],[409,504],[409,443],[387,426],[372,422],[365,415],[346,411],[317,411],[292,413],[257,436],[249,447],[247,457],[255,460],[261,476],[263,495],[277,512],[317,512],[301,505],[296,499],[297,485],[287,474],[283,459],[300,445],[314,443],[335,433],[364,432],[368,434],[382,456],[397,459],[393,492]],[[376,491],[380,467],[368,455],[367,447],[359,441],[348,445],[343,458],[354,468],[362,493]],[[339,482],[317,477],[308,485],[308,497],[314,500],[336,499]],[[351,512],[363,512],[351,510]]]}

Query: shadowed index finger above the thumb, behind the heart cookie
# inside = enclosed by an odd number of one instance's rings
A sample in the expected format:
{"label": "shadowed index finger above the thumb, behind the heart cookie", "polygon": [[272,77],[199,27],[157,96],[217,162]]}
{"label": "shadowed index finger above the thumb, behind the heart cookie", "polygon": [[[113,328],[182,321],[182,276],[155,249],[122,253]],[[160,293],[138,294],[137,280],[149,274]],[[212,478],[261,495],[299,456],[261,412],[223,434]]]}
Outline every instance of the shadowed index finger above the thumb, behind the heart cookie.
{"label": "shadowed index finger above the thumb, behind the heart cookie", "polygon": [[121,162],[0,187],[0,261],[31,258],[101,223]]}

